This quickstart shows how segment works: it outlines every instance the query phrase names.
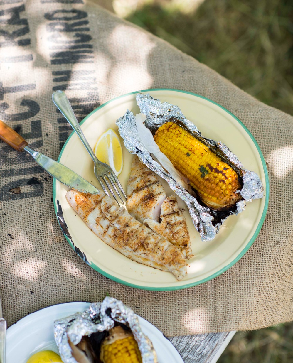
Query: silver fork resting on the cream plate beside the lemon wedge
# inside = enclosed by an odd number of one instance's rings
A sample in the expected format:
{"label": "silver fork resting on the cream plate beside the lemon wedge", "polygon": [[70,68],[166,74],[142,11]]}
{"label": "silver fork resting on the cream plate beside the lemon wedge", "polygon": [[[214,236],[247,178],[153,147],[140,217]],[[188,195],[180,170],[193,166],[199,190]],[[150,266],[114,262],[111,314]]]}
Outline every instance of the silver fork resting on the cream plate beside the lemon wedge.
{"label": "silver fork resting on the cream plate beside the lemon wedge", "polygon": [[[86,147],[86,150],[88,150],[91,158],[94,162],[94,174],[96,178],[98,179],[99,183],[101,184],[101,187],[103,188],[103,191],[108,195],[108,191],[106,187],[110,190],[113,198],[117,201],[118,205],[118,199],[113,191],[117,193],[119,198],[121,199],[122,203],[124,204],[124,201],[122,199],[122,196],[120,193],[122,193],[123,197],[126,200],[126,194],[123,190],[117,176],[113,172],[112,168],[110,168],[109,165],[102,163],[97,156],[95,156],[92,148],[90,147],[88,141],[85,138],[84,133],[81,131],[80,125],[77,121],[76,115],[73,112],[73,109],[70,105],[70,102],[66,96],[66,94],[63,91],[56,91],[52,94],[52,100],[55,103],[55,105],[58,107],[58,109],[61,111],[61,113],[64,115],[66,120],[69,122],[70,126],[73,128],[73,130],[77,133],[78,137],[81,139],[82,143]],[[117,186],[116,186],[117,184]],[[113,188],[113,189],[112,189]],[[119,190],[120,192],[119,192]]]}

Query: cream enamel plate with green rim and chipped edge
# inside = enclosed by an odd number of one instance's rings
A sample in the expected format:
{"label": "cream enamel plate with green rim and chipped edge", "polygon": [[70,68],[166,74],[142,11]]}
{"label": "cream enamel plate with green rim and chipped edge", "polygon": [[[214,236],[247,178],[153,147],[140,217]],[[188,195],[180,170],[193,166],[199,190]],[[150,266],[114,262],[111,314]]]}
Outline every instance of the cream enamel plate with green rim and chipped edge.
{"label": "cream enamel plate with green rim and chipped edge", "polygon": [[[55,211],[61,229],[72,248],[86,263],[104,276],[139,289],[184,289],[219,276],[233,266],[255,241],[268,208],[268,172],[260,148],[251,133],[239,119],[222,106],[205,97],[178,90],[156,89],[139,92],[150,93],[162,102],[167,101],[179,106],[185,117],[196,124],[203,136],[225,143],[245,168],[255,171],[260,176],[265,188],[264,198],[253,200],[247,204],[244,212],[230,216],[216,238],[209,242],[200,240],[188,211],[184,212],[194,257],[188,261],[187,276],[182,281],[177,281],[171,273],[132,261],[102,242],[70,207],[65,197],[68,188],[56,180],[53,181]],[[92,148],[99,135],[109,127],[118,130],[115,122],[125,114],[126,109],[134,114],[139,113],[135,100],[137,93],[115,98],[82,120],[81,129]],[[123,145],[123,140],[121,143]],[[132,157],[123,146],[124,166],[119,180],[125,190]],[[64,144],[58,161],[101,188],[93,172],[93,162],[74,132]],[[173,192],[166,181],[161,181],[166,194],[171,195]],[[185,206],[179,198],[178,204],[182,208]]]}

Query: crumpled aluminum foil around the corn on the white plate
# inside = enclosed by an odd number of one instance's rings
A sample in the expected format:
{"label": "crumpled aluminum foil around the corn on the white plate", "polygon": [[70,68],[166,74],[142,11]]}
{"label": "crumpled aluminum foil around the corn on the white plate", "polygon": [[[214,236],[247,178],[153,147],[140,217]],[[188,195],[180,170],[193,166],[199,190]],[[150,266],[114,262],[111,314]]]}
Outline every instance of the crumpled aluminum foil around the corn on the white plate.
{"label": "crumpled aluminum foil around the corn on the white plate", "polygon": [[[108,309],[111,309],[110,316],[107,314]],[[76,345],[84,336],[110,330],[114,327],[114,322],[123,323],[131,329],[141,351],[143,363],[158,363],[152,342],[143,334],[137,316],[122,301],[108,296],[102,302],[91,303],[83,312],[54,322],[54,338],[63,362],[77,363],[72,356],[68,338]]]}

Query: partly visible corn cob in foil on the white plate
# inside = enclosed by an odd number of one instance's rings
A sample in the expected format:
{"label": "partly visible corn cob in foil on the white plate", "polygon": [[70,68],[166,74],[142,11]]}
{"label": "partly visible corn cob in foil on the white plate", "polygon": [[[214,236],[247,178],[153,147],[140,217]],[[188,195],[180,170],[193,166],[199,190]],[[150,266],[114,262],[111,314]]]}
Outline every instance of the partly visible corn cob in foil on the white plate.
{"label": "partly visible corn cob in foil on the white plate", "polygon": [[101,344],[100,359],[103,363],[142,363],[133,334],[121,326],[109,330],[109,337]]}

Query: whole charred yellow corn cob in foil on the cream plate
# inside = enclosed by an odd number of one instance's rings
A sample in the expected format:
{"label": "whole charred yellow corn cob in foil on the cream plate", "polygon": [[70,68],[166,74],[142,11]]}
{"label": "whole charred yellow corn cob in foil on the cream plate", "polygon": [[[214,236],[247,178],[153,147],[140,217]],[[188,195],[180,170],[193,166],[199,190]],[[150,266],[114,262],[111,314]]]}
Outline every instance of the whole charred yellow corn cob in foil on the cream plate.
{"label": "whole charred yellow corn cob in foil on the cream plate", "polygon": [[225,209],[241,199],[236,172],[206,145],[174,122],[154,135],[160,151],[190,180],[199,198],[212,209]]}

